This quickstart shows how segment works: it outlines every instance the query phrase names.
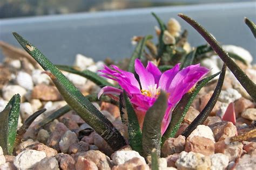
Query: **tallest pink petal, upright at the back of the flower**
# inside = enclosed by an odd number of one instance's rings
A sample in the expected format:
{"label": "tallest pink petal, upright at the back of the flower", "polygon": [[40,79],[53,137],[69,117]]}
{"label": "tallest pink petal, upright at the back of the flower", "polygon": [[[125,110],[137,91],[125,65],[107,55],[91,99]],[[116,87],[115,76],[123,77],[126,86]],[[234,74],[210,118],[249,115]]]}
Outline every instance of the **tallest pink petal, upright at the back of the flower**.
{"label": "tallest pink petal, upright at the back of the flower", "polygon": [[145,69],[139,59],[135,60],[134,68],[136,73],[139,75],[139,81],[143,90],[148,90],[150,86],[154,86],[154,84],[156,84],[154,76]]}

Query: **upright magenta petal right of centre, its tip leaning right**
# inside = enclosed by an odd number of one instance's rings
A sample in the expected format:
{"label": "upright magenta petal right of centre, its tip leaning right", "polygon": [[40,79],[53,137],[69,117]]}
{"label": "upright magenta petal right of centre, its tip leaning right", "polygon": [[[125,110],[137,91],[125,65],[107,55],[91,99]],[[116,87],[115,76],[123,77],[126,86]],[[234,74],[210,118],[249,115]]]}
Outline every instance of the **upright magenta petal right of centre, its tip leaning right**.
{"label": "upright magenta petal right of centre, its tip leaning right", "polygon": [[179,66],[180,66],[180,63],[178,63],[172,69],[165,71],[161,75],[160,80],[159,80],[159,86],[161,89],[163,89],[165,91],[167,91],[169,89],[174,76],[176,76],[176,74],[179,72]]}

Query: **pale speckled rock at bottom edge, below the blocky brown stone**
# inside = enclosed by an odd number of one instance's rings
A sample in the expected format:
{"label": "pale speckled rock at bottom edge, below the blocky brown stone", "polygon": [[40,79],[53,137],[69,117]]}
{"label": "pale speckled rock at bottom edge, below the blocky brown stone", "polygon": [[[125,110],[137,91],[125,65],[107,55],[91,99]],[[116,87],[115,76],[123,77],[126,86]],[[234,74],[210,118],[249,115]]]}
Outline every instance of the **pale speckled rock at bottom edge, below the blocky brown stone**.
{"label": "pale speckled rock at bottom edge, below the blocky brown stone", "polygon": [[175,165],[178,169],[210,169],[211,159],[200,153],[182,151]]}

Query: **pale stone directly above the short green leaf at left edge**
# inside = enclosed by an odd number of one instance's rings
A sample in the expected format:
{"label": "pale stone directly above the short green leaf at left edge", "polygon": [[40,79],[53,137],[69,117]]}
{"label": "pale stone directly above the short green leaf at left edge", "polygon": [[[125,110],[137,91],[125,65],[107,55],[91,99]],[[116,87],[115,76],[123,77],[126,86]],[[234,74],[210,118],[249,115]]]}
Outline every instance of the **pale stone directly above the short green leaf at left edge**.
{"label": "pale stone directly above the short green leaf at left edge", "polygon": [[9,101],[12,96],[19,94],[21,96],[21,102],[25,100],[26,89],[18,85],[7,85],[2,89],[3,99]]}

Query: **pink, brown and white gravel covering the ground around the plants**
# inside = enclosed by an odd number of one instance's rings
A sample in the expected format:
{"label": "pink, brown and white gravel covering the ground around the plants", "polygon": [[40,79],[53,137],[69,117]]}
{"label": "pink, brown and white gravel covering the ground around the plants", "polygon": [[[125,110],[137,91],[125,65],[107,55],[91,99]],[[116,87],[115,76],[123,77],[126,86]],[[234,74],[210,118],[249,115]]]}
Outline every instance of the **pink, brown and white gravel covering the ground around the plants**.
{"label": "pink, brown and white gravel covering the ground around the plants", "polygon": [[[213,73],[220,70],[221,63],[216,56],[202,62],[203,65],[210,62]],[[256,66],[252,66],[250,62],[248,61],[248,66],[237,63],[256,82]],[[94,62],[82,55],[77,55],[74,63],[79,69],[93,72],[101,69],[102,65],[102,61]],[[38,132],[35,131],[35,126],[42,119],[66,104],[48,75],[42,72],[40,67],[26,60],[6,59],[0,65],[0,111],[17,93],[22,98],[18,127],[33,112],[41,108],[47,109],[26,131],[22,143],[15,148],[14,155],[3,155],[0,147],[0,169],[150,169],[151,165],[146,164],[145,159],[138,152],[132,151],[129,145],[112,152],[103,138],[72,110]],[[99,87],[84,77],[67,72],[64,74],[84,95],[97,93],[99,90]],[[213,81],[200,90],[176,138],[165,141],[159,169],[256,167],[255,138],[230,141],[237,134],[255,129],[256,120],[255,103],[230,72],[226,73],[223,91],[204,125],[199,125],[187,139],[180,135],[205,107],[215,85],[216,81]],[[230,103],[234,103],[234,109],[227,109]],[[105,102],[93,104],[125,135],[116,105]],[[235,122],[223,121],[225,112],[232,111],[235,112]]]}

